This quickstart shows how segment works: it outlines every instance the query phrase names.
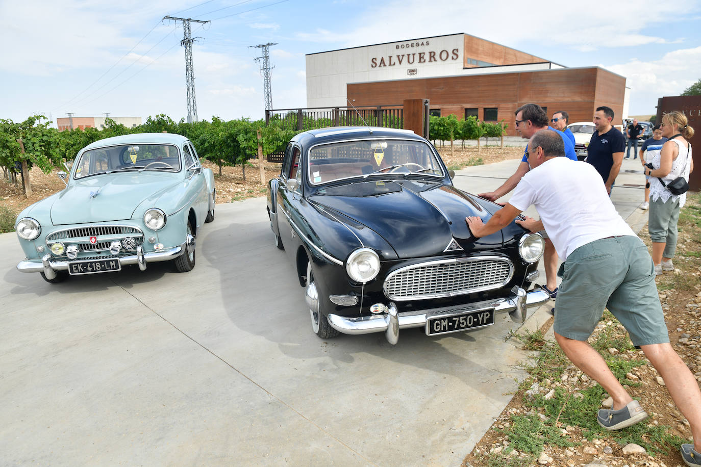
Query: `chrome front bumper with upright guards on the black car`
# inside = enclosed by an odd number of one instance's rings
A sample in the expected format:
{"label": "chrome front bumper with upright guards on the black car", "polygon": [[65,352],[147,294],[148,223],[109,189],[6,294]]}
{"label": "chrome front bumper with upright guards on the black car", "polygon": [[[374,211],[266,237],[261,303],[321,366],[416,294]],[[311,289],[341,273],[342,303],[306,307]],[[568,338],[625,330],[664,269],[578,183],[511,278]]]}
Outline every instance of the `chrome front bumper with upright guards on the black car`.
{"label": "chrome front bumper with upright guards on the black car", "polygon": [[[550,300],[550,295],[542,289],[526,293],[524,289],[514,287],[511,293],[512,295],[508,298],[486,300],[455,309],[455,314],[493,308],[496,313],[508,313],[515,323],[523,323],[526,321],[526,314],[529,308],[539,307],[547,302],[547,300]],[[348,316],[339,316],[329,313],[327,319],[329,320],[329,324],[341,333],[385,333],[388,342],[390,342],[390,344],[396,344],[399,340],[400,329],[421,328],[422,326],[426,326],[426,321],[428,321],[429,316],[433,314],[444,315],[446,312],[449,312],[448,309],[441,308],[398,313],[397,306],[391,302],[387,305],[387,308],[388,312],[386,313],[374,314],[372,316],[359,316],[357,318],[349,318]]]}

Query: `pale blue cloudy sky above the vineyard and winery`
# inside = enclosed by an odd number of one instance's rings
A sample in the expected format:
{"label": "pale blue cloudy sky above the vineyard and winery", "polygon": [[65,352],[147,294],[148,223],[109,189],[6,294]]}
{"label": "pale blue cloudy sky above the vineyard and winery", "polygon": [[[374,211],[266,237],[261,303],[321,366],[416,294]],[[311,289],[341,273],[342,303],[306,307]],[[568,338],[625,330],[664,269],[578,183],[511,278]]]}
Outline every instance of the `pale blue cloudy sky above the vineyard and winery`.
{"label": "pale blue cloudy sky above the vineyard and winery", "polygon": [[264,115],[257,44],[270,48],[273,108],[306,105],[304,55],[467,33],[566,67],[627,78],[629,113],[701,78],[701,0],[0,0],[0,118],[185,118],[182,23],[192,23],[200,120]]}

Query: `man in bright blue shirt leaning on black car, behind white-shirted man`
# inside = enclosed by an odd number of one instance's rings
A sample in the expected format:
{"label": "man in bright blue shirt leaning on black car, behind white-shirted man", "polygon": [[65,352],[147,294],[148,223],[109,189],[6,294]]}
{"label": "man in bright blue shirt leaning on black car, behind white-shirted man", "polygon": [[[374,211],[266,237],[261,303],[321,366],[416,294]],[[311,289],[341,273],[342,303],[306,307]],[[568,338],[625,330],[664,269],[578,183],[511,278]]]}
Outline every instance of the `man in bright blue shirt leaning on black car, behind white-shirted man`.
{"label": "man in bright blue shirt leaning on black car, behind white-shirted man", "polygon": [[[525,104],[516,109],[515,113],[516,130],[521,133],[522,138],[531,139],[533,134],[536,134],[540,130],[552,130],[562,137],[562,141],[565,145],[566,157],[571,160],[577,160],[577,154],[574,152],[574,144],[563,132],[547,125],[547,113],[545,113],[542,107],[538,104]],[[518,169],[516,169],[516,172],[510,176],[502,186],[489,193],[479,193],[479,196],[496,202],[496,200],[503,195],[516,188],[522,177],[530,170],[527,150],[528,147],[526,146],[526,149],[524,149],[524,157]],[[547,234],[545,232],[541,232],[541,234],[545,237],[545,252],[543,253],[543,264],[545,266],[544,289],[550,294],[551,298],[555,298],[557,296],[557,251],[555,251],[555,247],[552,242],[550,242],[550,239],[547,238]]]}

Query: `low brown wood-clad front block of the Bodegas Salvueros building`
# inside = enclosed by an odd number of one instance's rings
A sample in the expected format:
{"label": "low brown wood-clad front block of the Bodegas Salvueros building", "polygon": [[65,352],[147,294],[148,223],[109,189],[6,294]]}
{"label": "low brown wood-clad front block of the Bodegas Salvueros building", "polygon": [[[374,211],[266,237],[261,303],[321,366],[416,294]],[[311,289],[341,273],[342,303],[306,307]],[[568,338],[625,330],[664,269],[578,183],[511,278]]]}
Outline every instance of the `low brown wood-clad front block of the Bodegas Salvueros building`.
{"label": "low brown wood-clad front block of the Bodegas Salvueros building", "polygon": [[505,120],[508,134],[516,136],[514,112],[529,102],[546,106],[548,116],[567,111],[571,123],[592,121],[594,109],[600,105],[611,107],[620,120],[625,78],[598,67],[557,69],[357,83],[347,86],[347,94],[348,99],[355,99],[355,105],[362,106],[428,98],[431,109],[441,109],[441,115],[454,113],[461,120],[465,108],[476,107],[479,120],[483,120],[484,108],[496,107],[498,120]]}

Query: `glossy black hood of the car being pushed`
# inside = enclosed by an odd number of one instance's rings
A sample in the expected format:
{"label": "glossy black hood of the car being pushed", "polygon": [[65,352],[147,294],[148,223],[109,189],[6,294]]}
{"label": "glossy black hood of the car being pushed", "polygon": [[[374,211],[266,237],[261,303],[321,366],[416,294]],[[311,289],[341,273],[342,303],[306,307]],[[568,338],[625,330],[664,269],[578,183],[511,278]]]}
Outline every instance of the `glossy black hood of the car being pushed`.
{"label": "glossy black hood of the car being pushed", "polygon": [[465,217],[478,216],[486,222],[491,213],[477,198],[454,186],[401,180],[353,183],[353,187],[355,196],[346,195],[339,187],[324,190],[310,200],[374,230],[393,247],[398,258],[443,254],[453,239],[466,251],[503,244],[501,231],[481,239],[472,237]]}

